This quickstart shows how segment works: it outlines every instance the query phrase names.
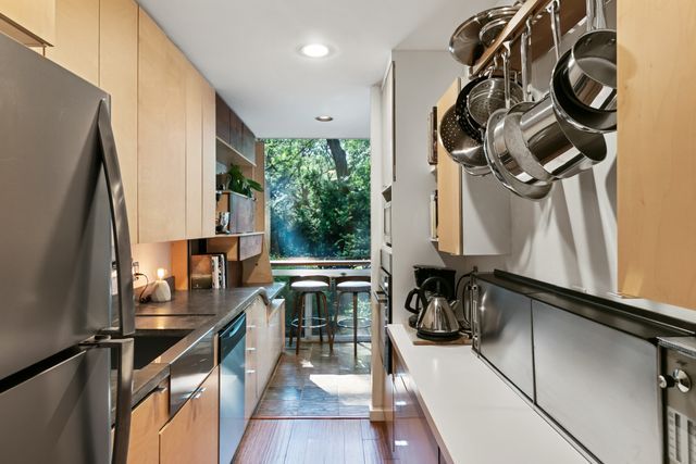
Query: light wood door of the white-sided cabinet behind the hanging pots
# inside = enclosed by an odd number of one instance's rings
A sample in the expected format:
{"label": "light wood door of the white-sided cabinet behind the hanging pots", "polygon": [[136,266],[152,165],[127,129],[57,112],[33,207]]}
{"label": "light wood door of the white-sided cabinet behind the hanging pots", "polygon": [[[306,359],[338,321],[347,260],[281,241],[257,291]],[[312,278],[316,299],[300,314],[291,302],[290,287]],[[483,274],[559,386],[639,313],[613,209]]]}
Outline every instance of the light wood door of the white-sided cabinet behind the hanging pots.
{"label": "light wood door of the white-sided cabinet behind the hanging pots", "polygon": [[[457,103],[460,84],[456,79],[437,101],[437,127],[443,115]],[[437,141],[437,249],[445,253],[462,254],[461,236],[462,170],[443,143]]]}

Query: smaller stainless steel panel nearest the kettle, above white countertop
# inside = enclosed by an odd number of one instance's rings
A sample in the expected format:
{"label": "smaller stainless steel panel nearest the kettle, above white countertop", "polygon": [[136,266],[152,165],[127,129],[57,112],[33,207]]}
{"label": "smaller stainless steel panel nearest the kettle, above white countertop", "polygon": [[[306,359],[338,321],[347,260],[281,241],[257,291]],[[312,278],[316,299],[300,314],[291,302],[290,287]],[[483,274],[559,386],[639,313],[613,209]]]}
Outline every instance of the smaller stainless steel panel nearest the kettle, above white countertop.
{"label": "smaller stainless steel panel nearest the kettle, above white countertop", "polygon": [[481,354],[534,399],[532,303],[529,297],[478,281]]}

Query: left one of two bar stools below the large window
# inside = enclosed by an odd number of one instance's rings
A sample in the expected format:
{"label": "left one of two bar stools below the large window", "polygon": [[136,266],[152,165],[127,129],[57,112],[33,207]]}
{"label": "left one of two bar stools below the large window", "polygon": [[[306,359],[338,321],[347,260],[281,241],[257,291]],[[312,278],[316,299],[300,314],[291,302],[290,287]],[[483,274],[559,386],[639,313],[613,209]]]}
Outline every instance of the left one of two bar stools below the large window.
{"label": "left one of two bar stools below the large window", "polygon": [[[328,336],[328,348],[334,351],[334,337],[331,329],[331,316],[328,314],[328,303],[325,291],[330,288],[331,279],[327,276],[310,275],[290,278],[290,290],[295,292],[295,305],[293,319],[290,321],[290,346],[293,346],[293,331],[297,334],[297,344],[295,354],[300,352],[300,336],[303,329],[319,328],[319,341],[324,342],[322,328],[326,327]],[[311,316],[309,324],[304,322],[304,296],[313,294],[316,302],[316,316]],[[323,308],[322,308],[323,306]],[[324,315],[322,315],[322,310]]]}

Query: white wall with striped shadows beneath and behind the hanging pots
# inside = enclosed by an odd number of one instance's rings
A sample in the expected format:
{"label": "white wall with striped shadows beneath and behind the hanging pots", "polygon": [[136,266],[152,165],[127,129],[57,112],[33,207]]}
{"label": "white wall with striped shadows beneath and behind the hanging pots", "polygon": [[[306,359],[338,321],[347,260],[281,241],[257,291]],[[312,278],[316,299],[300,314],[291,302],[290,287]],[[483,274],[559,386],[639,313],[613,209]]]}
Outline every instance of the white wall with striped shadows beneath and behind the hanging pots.
{"label": "white wall with striped shadows beneath and behind the hanging pots", "polygon": [[[616,25],[616,3],[607,20]],[[585,32],[577,26],[562,40],[568,50]],[[549,52],[533,66],[538,95],[548,90],[555,55]],[[540,202],[513,197],[512,248],[508,271],[559,286],[606,296],[617,289],[617,141],[606,136],[607,159],[593,170],[557,181]]]}

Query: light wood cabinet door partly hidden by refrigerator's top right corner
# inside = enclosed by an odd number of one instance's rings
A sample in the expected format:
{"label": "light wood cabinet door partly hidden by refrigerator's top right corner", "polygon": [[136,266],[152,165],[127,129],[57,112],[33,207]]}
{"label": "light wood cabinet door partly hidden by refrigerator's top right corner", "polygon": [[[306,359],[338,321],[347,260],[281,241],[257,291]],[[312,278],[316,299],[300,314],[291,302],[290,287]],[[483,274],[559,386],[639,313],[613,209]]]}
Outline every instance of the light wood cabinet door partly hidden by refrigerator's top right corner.
{"label": "light wood cabinet door partly hidden by refrigerator's top right corner", "polygon": [[99,0],[55,0],[55,40],[46,57],[99,86]]}

